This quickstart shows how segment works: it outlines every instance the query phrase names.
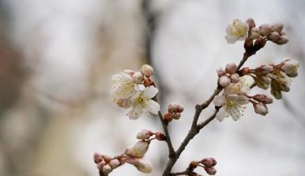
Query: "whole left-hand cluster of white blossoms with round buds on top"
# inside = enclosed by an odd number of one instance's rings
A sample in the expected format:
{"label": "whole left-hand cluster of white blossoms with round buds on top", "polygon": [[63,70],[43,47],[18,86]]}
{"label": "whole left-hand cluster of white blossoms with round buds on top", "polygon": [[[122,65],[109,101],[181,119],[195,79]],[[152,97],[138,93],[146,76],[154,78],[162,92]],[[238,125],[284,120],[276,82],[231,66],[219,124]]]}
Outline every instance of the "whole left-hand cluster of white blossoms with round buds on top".
{"label": "whole left-hand cluster of white blossoms with round buds on top", "polygon": [[151,78],[153,73],[153,67],[144,64],[141,72],[124,70],[112,76],[112,101],[119,107],[130,108],[130,119],[138,119],[143,113],[153,116],[159,112],[160,105],[153,100],[159,91]]}

